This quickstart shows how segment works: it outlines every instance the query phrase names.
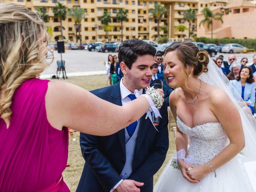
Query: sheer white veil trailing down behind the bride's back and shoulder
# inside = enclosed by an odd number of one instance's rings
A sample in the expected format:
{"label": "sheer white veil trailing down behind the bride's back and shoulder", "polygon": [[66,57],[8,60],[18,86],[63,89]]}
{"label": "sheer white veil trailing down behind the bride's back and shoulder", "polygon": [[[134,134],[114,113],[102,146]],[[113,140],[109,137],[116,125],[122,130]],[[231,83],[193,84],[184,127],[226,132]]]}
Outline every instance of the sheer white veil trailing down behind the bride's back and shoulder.
{"label": "sheer white veil trailing down behind the bride's back and shoulder", "polygon": [[[222,70],[218,68],[215,62],[209,57],[208,72],[203,73],[199,77],[202,81],[221,88],[224,90],[232,102],[236,105],[241,119],[242,126],[244,129],[245,147],[242,150],[242,154],[248,158],[256,159],[256,120],[248,106],[246,106],[242,97],[234,86],[229,82],[228,78],[223,74]],[[230,114],[232,115],[232,114]]]}

